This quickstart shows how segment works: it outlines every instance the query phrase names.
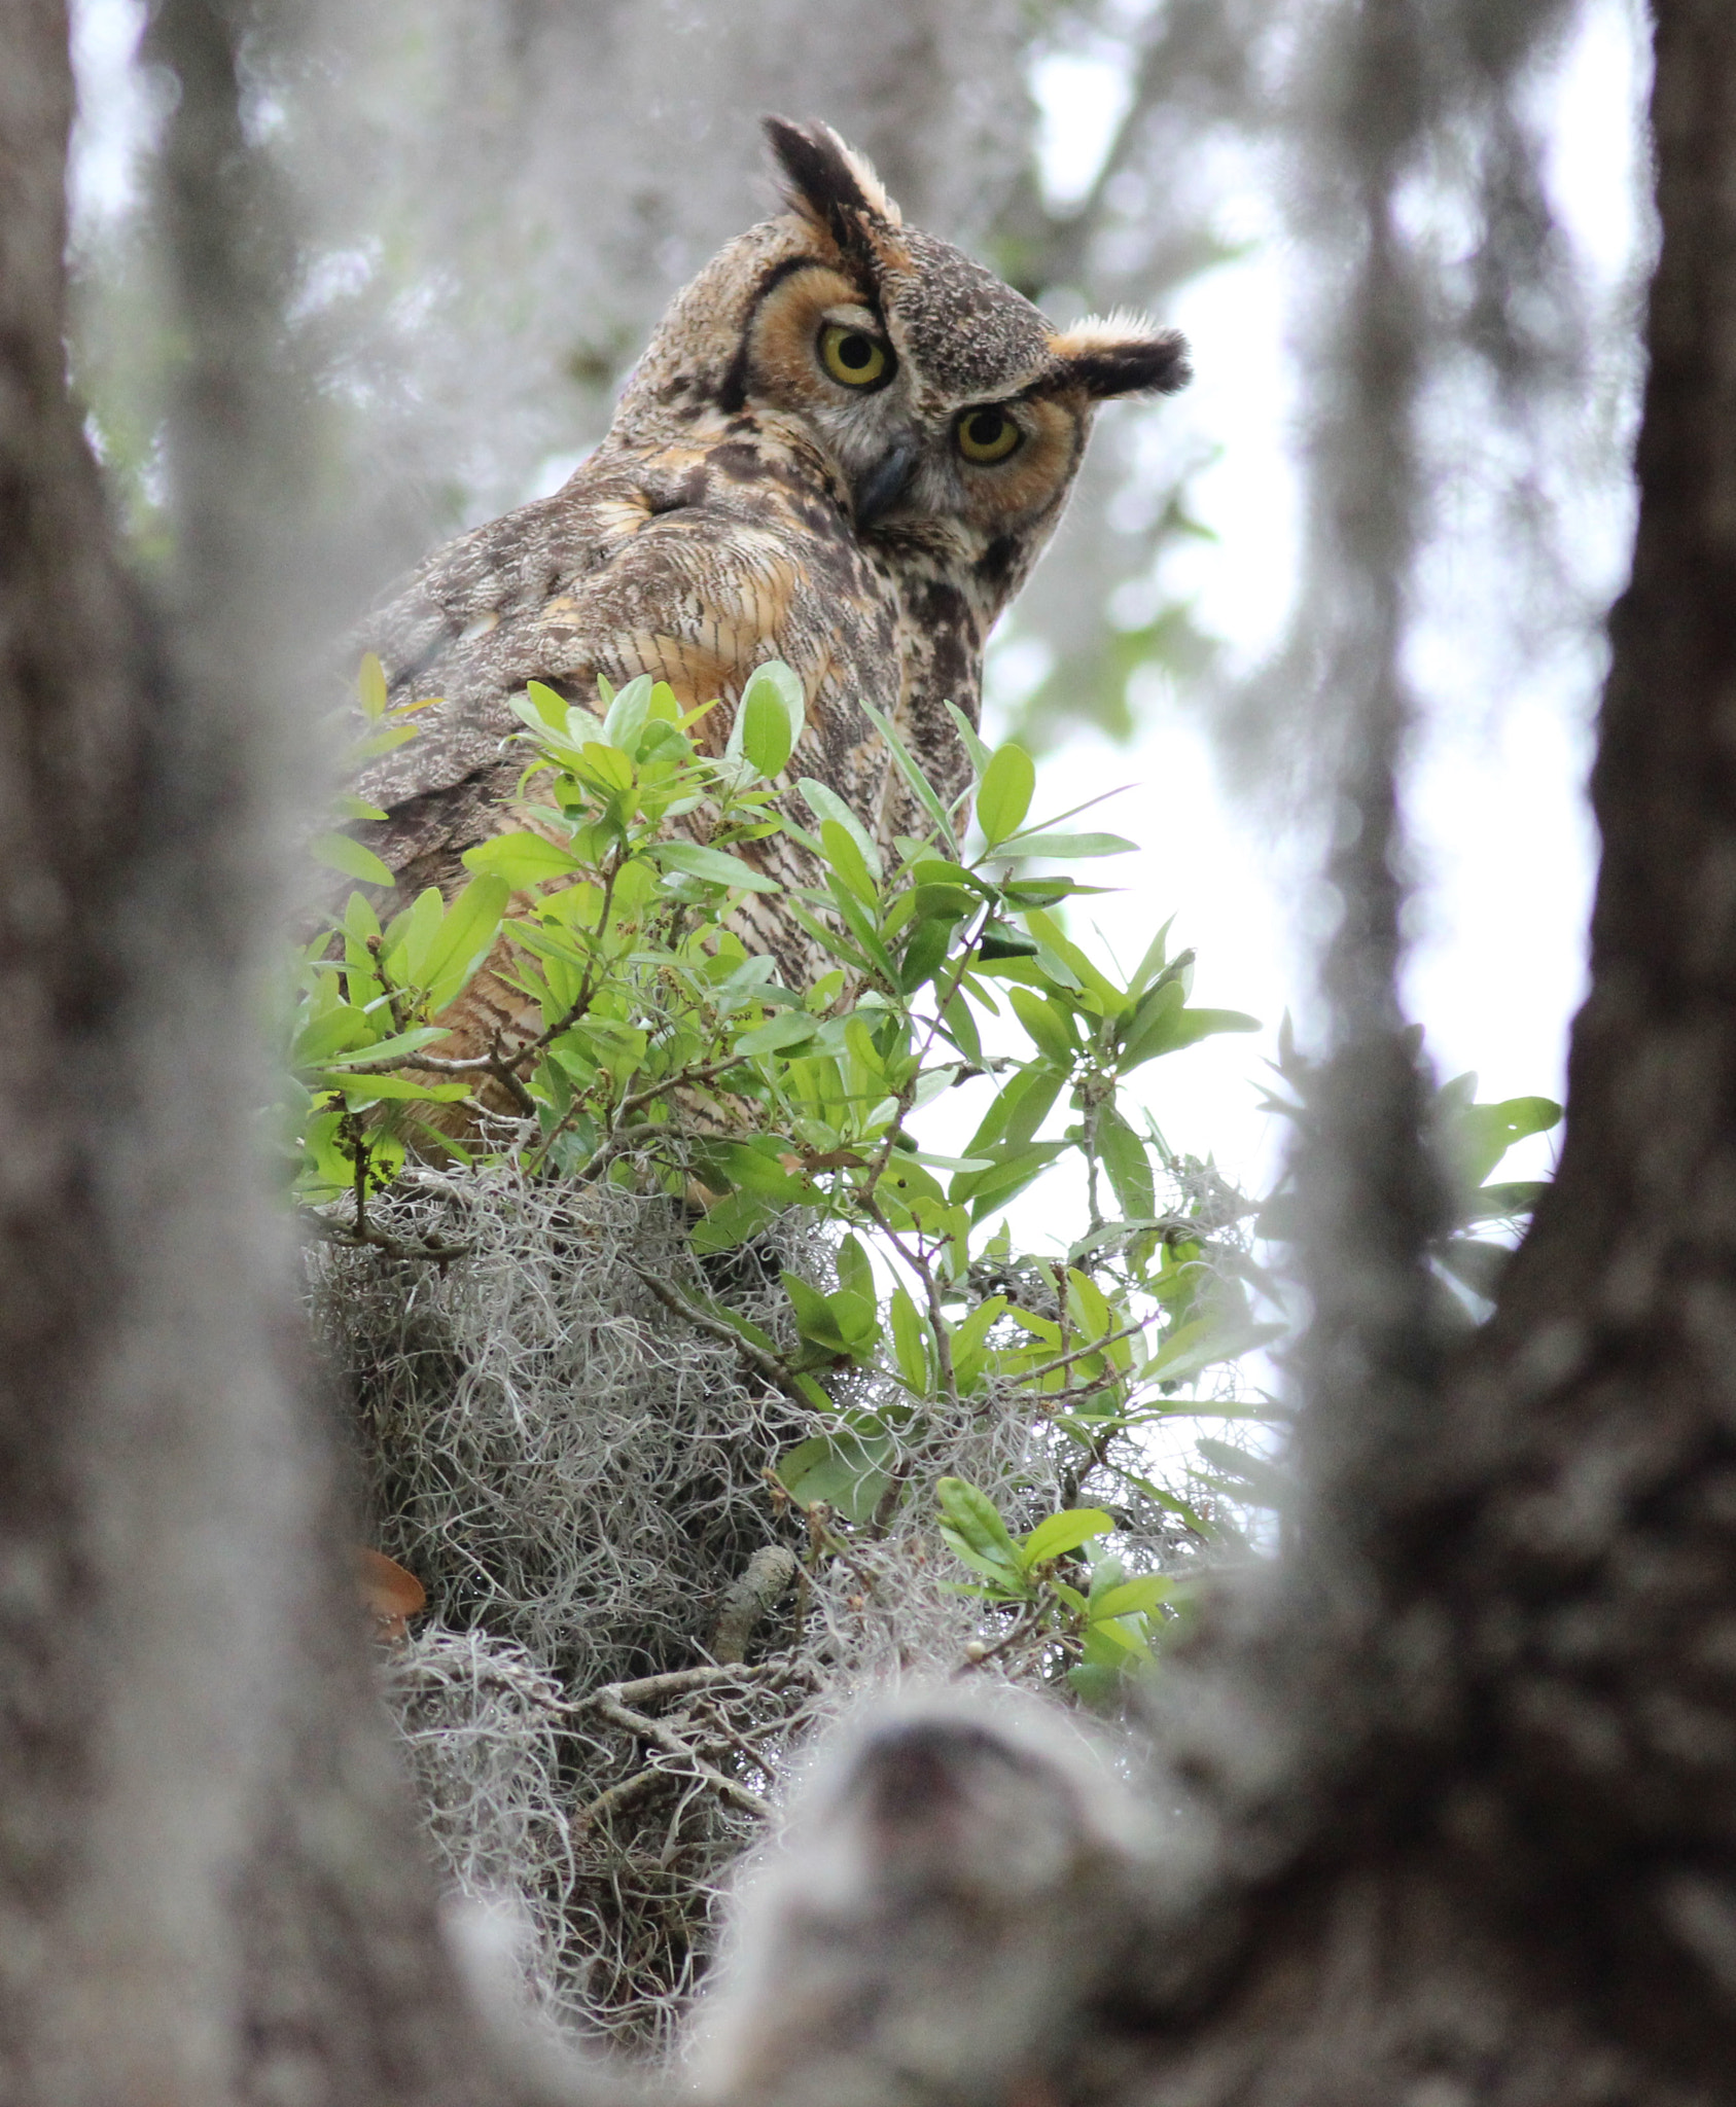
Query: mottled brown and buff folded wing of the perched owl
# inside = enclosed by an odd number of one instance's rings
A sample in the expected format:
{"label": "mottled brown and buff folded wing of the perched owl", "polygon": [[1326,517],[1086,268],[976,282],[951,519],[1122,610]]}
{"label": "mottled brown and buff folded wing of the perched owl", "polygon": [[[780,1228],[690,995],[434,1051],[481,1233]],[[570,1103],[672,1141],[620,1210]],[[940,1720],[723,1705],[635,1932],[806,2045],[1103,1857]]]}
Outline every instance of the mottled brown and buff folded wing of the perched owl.
{"label": "mottled brown and buff folded wing of the perched owl", "polygon": [[379,653],[394,704],[442,697],[356,784],[386,811],[360,839],[405,887],[447,887],[463,849],[522,824],[522,754],[504,742],[527,681],[594,702],[598,674],[649,672],[693,706],[784,657],[817,697],[897,655],[847,520],[830,529],[775,464],[754,472],[716,447],[592,457],[554,497],[430,556],[356,643]]}

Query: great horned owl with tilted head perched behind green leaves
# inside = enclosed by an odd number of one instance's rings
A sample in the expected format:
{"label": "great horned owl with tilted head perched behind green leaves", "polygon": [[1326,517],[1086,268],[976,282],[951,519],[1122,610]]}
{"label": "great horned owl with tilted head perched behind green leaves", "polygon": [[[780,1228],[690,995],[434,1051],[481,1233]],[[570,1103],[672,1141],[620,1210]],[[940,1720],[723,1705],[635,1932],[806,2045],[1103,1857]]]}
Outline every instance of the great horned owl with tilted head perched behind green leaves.
{"label": "great horned owl with tilted head perched behind green leaves", "polygon": [[[525,824],[501,742],[527,681],[594,702],[598,674],[649,672],[691,706],[782,657],[809,708],[792,769],[881,839],[912,830],[862,702],[956,794],[944,704],[975,721],[984,641],[1060,518],[1096,405],[1188,377],[1173,331],[1058,331],[906,228],[824,124],[767,131],[788,211],[676,295],[596,453],[430,556],[364,630],[392,702],[445,697],[360,784],[386,809],[362,839],[405,898],[449,891],[466,849]],[[763,847],[777,874],[811,877],[792,843]],[[798,931],[769,942],[807,978]],[[455,1051],[516,1035],[522,1007],[478,976],[449,1018]]]}

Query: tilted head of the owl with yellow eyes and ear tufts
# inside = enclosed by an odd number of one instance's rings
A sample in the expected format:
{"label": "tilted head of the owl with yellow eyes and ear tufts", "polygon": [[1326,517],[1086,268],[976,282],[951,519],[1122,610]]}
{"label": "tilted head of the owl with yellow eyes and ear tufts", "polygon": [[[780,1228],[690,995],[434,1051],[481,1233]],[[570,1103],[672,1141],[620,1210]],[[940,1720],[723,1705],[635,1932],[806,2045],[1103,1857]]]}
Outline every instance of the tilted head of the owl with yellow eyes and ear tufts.
{"label": "tilted head of the owl with yellow eyes and ear tufts", "polygon": [[904,225],[828,126],[769,118],[767,133],[788,211],[680,295],[617,430],[780,430],[820,453],[860,535],[967,582],[992,615],[1060,516],[1098,402],[1182,388],[1186,346],[1127,316],[1056,329]]}

